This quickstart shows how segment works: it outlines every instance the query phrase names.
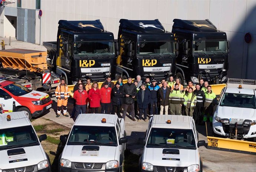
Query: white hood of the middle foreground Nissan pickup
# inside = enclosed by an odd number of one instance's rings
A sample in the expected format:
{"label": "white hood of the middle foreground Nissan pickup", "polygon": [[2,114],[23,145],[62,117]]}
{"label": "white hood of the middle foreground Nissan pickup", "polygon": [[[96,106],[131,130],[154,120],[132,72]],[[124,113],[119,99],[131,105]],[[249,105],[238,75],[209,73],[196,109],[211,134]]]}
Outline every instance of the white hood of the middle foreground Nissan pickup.
{"label": "white hood of the middle foreground Nissan pickup", "polygon": [[84,145],[66,145],[63,150],[62,158],[68,159],[71,162],[108,162],[115,159],[115,146],[99,146],[99,151],[95,156],[85,156],[85,151],[82,152]]}

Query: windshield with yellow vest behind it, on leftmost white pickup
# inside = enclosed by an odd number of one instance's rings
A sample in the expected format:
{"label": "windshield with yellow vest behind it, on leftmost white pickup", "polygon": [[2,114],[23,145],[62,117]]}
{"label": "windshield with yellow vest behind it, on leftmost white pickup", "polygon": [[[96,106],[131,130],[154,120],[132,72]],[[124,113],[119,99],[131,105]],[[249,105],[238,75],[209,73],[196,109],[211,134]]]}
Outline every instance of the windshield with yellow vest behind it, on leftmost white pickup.
{"label": "windshield with yellow vest behind it, on leftmost white pickup", "polygon": [[31,125],[0,130],[0,150],[39,145]]}

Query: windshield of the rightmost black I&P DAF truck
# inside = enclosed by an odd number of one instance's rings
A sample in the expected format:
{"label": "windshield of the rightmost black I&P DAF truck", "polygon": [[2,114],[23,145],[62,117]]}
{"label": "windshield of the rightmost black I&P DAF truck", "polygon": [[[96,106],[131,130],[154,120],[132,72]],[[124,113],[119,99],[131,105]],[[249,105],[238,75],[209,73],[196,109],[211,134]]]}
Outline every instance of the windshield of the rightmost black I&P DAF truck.
{"label": "windshield of the rightmost black I&P DAF truck", "polygon": [[193,53],[227,52],[227,41],[193,41]]}

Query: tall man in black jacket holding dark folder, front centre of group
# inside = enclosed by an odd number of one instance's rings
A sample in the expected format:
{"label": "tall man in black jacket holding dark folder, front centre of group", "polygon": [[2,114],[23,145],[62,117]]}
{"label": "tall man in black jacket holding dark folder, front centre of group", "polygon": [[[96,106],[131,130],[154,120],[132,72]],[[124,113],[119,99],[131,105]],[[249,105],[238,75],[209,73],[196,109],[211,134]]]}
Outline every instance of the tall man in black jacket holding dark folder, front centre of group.
{"label": "tall man in black jacket holding dark folder, front centre of group", "polygon": [[132,83],[132,78],[128,77],[128,82],[123,86],[124,90],[124,111],[123,111],[123,118],[125,119],[126,112],[128,107],[130,106],[132,121],[135,120],[135,113],[134,113],[134,99],[137,96],[137,90],[134,83]]}

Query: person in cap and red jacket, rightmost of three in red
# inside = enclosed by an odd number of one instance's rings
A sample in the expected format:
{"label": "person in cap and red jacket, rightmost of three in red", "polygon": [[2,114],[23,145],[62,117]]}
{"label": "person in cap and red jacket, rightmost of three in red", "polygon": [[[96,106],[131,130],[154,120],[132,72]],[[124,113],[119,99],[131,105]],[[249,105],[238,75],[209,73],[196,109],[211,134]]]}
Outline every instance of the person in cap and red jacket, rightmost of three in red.
{"label": "person in cap and red jacket, rightmost of three in red", "polygon": [[108,82],[103,83],[103,87],[100,89],[101,93],[101,113],[109,114],[109,108],[111,105],[111,87],[108,86]]}

